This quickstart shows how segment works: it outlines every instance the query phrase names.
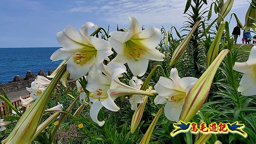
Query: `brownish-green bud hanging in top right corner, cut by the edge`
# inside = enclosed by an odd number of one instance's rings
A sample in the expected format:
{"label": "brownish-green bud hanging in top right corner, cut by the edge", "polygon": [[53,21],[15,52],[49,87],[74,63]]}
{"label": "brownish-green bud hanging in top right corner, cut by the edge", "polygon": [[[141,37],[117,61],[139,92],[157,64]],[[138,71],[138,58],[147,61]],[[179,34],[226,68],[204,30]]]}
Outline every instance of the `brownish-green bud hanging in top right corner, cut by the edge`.
{"label": "brownish-green bud hanging in top right corner, cut by the edge", "polygon": [[245,28],[245,32],[247,32],[250,28],[252,28],[253,31],[256,31],[256,27],[254,25],[255,19],[256,19],[256,9],[253,9],[252,6],[250,6],[245,15],[245,23],[243,27]]}

